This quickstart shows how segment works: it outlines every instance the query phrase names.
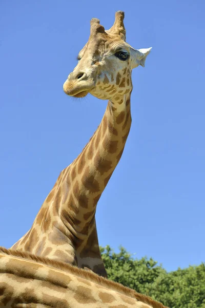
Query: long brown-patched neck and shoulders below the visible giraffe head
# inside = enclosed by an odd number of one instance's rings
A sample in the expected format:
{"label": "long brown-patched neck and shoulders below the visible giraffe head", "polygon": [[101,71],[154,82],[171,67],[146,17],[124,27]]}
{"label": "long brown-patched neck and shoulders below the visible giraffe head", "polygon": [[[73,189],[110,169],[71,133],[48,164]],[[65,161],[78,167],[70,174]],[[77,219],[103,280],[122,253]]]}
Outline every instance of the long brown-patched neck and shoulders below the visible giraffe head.
{"label": "long brown-patched neck and shoulders below the visible giraffe head", "polygon": [[93,137],[61,172],[29,233],[12,248],[86,266],[106,276],[95,211],[120,160],[130,126],[130,95],[109,101]]}

